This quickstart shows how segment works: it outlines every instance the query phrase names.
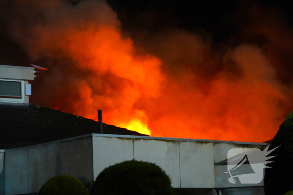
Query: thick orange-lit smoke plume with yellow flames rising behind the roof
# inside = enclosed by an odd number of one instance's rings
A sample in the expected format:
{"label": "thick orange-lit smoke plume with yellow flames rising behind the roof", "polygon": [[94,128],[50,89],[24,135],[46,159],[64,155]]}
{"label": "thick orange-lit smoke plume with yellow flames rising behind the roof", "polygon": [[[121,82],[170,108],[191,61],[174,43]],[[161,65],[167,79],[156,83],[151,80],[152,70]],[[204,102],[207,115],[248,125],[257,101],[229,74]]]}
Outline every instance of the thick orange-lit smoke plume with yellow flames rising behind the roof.
{"label": "thick orange-lit smoke plume with yellow flames rising behind the roof", "polygon": [[33,103],[92,119],[102,109],[104,122],[152,136],[255,142],[272,139],[293,108],[276,54],[292,49],[289,30],[253,19],[242,38],[257,32],[267,45],[216,47],[178,29],[134,44],[104,1],[2,1],[7,32],[49,69],[33,82]]}

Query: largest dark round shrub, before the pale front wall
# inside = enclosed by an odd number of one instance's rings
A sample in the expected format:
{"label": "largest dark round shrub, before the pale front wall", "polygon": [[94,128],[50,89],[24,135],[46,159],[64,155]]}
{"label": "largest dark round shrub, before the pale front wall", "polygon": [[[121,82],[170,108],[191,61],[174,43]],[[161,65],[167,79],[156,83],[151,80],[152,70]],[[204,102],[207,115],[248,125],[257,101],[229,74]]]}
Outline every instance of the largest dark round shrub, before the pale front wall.
{"label": "largest dark round shrub, before the pale front wall", "polygon": [[91,195],[175,195],[168,175],[156,164],[124,161],[105,168],[96,178]]}

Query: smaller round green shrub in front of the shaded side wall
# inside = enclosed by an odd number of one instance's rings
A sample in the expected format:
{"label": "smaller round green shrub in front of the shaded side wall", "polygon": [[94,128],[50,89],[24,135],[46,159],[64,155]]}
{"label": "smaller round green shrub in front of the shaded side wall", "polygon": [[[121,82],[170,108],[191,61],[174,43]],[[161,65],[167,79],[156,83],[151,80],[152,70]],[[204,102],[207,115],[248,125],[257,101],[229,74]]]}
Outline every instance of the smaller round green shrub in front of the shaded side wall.
{"label": "smaller round green shrub in front of the shaded side wall", "polygon": [[48,180],[40,189],[39,195],[88,195],[84,184],[70,175],[58,175]]}

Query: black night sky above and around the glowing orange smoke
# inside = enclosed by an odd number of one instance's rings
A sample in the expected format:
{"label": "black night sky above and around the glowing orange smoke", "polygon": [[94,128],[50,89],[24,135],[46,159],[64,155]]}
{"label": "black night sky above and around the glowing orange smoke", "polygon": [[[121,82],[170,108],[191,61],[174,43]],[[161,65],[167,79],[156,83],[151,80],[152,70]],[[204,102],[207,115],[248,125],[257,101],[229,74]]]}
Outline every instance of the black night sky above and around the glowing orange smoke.
{"label": "black night sky above and around the glowing orange smoke", "polygon": [[[68,1],[72,6],[79,6],[82,2],[81,0],[62,1]],[[10,11],[13,2],[0,1],[0,63],[27,66],[28,63],[32,63],[31,59],[7,32],[9,18],[14,17],[14,13]],[[247,30],[251,28],[252,20],[258,20],[258,23],[269,25],[272,28],[278,28],[276,23],[280,22],[286,27],[286,29],[280,30],[286,31],[289,36],[293,37],[293,14],[287,1],[108,0],[107,3],[117,14],[121,22],[122,33],[131,37],[134,44],[142,42],[145,44],[154,39],[154,35],[163,35],[173,29],[187,30],[201,34],[203,37],[207,36],[212,39],[213,46],[220,49],[223,44],[231,48],[241,43],[255,44],[260,47],[269,44],[270,40],[261,32]],[[254,11],[255,13],[253,13]],[[39,16],[35,15],[37,18]],[[274,21],[271,21],[271,17]],[[279,79],[290,84],[293,71],[290,64],[293,59],[290,54],[281,57],[285,62],[281,65],[282,70],[279,70]]]}

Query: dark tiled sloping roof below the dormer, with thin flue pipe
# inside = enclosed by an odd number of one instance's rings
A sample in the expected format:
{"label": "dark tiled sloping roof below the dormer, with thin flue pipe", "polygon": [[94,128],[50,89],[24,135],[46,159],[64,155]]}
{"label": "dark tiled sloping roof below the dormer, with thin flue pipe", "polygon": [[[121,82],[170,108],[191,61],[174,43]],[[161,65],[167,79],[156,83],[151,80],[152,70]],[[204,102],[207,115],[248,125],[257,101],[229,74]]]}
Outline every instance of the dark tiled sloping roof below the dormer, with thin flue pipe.
{"label": "dark tiled sloping roof below the dormer, with thin flue pipe", "polygon": [[[148,136],[103,123],[105,134]],[[99,133],[98,121],[38,104],[0,104],[0,148],[9,149]]]}

